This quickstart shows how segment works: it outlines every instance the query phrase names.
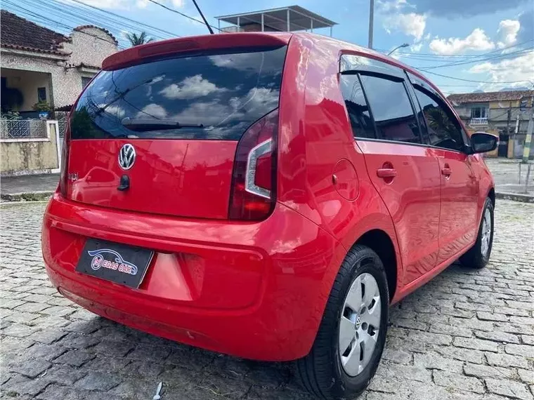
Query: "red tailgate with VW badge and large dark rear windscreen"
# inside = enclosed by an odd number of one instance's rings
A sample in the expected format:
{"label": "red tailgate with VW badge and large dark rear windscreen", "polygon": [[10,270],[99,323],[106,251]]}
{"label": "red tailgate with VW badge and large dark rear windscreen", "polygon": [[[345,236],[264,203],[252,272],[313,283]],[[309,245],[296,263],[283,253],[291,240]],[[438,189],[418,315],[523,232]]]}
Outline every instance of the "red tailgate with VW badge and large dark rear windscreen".
{"label": "red tailgate with VW badge and large dark rear windscreen", "polygon": [[228,218],[237,142],[278,107],[286,49],[208,48],[100,72],[70,119],[67,196]]}

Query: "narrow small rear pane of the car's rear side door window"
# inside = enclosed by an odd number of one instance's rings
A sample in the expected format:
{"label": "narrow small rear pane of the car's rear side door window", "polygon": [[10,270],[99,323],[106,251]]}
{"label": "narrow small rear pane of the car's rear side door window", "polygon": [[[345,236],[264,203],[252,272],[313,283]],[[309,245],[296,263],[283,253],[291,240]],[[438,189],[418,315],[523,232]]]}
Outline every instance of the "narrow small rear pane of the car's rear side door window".
{"label": "narrow small rear pane of the car's rear side door window", "polygon": [[375,138],[369,106],[365,101],[363,89],[357,74],[341,75],[341,93],[345,100],[346,111],[351,121],[355,138]]}

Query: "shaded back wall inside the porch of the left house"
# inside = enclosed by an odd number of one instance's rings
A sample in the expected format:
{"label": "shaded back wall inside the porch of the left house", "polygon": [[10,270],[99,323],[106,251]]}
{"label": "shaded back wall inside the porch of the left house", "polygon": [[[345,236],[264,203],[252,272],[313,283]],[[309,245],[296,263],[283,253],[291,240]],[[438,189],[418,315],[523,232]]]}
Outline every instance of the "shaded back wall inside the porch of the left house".
{"label": "shaded back wall inside the porch of the left house", "polygon": [[22,93],[24,102],[16,111],[33,110],[33,106],[38,100],[37,88],[46,88],[46,101],[51,101],[51,74],[6,69],[2,65],[1,75],[6,78],[8,88],[17,88]]}

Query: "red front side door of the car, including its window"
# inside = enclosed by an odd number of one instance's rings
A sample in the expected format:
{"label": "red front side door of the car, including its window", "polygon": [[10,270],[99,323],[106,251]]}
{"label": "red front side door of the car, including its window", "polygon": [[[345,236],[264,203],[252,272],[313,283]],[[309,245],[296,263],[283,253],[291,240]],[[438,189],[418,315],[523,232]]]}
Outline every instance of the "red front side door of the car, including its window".
{"label": "red front side door of the car, including its window", "polygon": [[424,114],[424,136],[435,148],[441,174],[438,263],[454,258],[473,243],[478,231],[478,180],[466,154],[467,135],[445,101],[421,79],[410,75]]}

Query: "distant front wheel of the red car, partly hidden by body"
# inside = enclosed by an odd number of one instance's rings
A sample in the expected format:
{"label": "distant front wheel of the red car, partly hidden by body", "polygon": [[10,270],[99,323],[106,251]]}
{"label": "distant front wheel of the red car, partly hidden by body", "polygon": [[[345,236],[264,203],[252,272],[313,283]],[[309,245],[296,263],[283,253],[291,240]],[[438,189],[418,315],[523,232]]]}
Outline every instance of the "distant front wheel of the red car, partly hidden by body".
{"label": "distant front wheel of the red car, partly hidden by body", "polygon": [[481,269],[488,265],[493,246],[493,230],[493,202],[488,197],[484,203],[476,242],[467,253],[460,257],[460,262],[464,267]]}

